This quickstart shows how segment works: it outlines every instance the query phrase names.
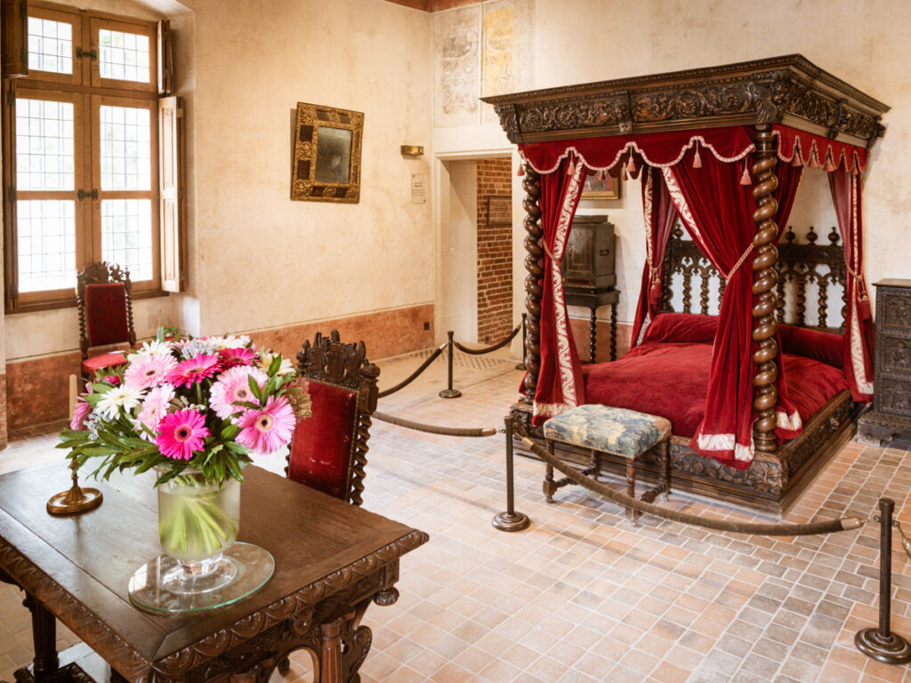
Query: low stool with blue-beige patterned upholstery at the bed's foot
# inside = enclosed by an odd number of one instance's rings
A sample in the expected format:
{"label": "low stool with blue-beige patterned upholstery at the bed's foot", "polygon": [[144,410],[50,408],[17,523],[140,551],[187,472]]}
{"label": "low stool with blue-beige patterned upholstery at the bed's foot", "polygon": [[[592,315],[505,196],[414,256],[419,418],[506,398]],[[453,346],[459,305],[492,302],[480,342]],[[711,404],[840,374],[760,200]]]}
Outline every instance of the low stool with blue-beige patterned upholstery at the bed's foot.
{"label": "low stool with blue-beige patterned upholstery at the bed's foot", "polygon": [[[589,449],[591,461],[582,474],[598,479],[601,471],[601,454],[618,455],[627,464],[627,494],[636,496],[636,458],[651,448],[658,447],[661,458],[661,482],[642,495],[642,500],[652,502],[658,494],[670,494],[670,422],[663,417],[638,413],[624,408],[590,403],[568,410],[544,423],[544,438],[548,453],[554,453],[554,443],[568,443]],[[561,486],[571,483],[568,478],[554,481],[554,468],[549,464],[544,477],[544,494],[553,503],[554,493]],[[638,525],[639,513],[627,508],[627,519]]]}

